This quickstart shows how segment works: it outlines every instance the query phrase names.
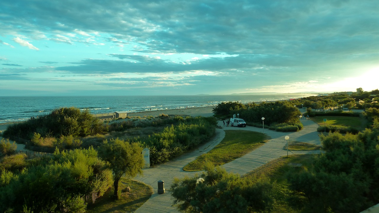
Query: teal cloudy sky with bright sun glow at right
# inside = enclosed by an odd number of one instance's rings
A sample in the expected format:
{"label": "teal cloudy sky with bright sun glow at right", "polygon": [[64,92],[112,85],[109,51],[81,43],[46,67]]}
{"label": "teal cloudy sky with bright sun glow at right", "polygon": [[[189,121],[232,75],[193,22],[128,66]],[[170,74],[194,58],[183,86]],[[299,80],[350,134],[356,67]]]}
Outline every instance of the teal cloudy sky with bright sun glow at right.
{"label": "teal cloudy sky with bright sun glow at right", "polygon": [[376,0],[2,0],[0,96],[378,89]]}

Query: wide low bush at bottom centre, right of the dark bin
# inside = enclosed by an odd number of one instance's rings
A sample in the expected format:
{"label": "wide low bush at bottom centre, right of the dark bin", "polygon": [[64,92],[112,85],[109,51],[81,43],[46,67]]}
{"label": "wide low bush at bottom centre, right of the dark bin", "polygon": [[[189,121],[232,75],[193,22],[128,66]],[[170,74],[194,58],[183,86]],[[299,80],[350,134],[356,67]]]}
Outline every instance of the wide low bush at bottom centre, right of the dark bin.
{"label": "wide low bush at bottom centre, right of the dark bin", "polygon": [[175,179],[171,186],[174,203],[183,212],[247,213],[264,210],[271,202],[272,185],[266,177],[247,179],[205,163],[205,172]]}

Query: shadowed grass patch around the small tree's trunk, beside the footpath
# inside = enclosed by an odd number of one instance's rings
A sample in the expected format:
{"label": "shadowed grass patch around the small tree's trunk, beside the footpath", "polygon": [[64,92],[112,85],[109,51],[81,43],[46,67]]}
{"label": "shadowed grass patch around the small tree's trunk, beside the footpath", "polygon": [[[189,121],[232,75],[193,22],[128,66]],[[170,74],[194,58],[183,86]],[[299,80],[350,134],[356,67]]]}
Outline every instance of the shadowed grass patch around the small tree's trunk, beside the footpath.
{"label": "shadowed grass patch around the small tree's trunk, beside the footpath", "polygon": [[[130,187],[130,192],[121,192],[125,187]],[[141,207],[153,194],[153,189],[145,183],[135,180],[121,178],[119,183],[119,199],[114,201],[113,187],[97,199],[95,204],[89,205],[87,213],[117,213],[117,212],[134,212]]]}

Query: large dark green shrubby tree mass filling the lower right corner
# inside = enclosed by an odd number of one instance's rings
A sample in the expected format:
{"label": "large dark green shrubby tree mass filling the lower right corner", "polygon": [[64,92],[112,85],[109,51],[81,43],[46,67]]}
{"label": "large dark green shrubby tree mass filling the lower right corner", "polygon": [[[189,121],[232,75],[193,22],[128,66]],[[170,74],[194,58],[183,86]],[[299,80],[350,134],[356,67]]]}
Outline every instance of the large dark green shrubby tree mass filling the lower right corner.
{"label": "large dark green shrubby tree mass filling the lower right corner", "polygon": [[[379,121],[357,135],[321,135],[325,153],[288,175],[292,190],[308,198],[311,212],[360,212],[379,199]],[[322,205],[320,205],[322,204]],[[307,211],[308,212],[308,211]]]}

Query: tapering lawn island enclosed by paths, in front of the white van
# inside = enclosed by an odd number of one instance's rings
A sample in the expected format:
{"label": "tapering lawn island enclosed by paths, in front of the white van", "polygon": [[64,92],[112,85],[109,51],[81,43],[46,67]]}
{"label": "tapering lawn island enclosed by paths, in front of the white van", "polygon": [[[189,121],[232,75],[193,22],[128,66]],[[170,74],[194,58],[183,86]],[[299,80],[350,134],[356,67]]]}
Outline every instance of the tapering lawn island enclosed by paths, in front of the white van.
{"label": "tapering lawn island enclosed by paths, in front of the white van", "polygon": [[226,130],[224,139],[215,148],[188,163],[183,170],[201,171],[205,160],[212,162],[215,166],[229,163],[262,146],[268,139],[269,136],[259,132]]}

